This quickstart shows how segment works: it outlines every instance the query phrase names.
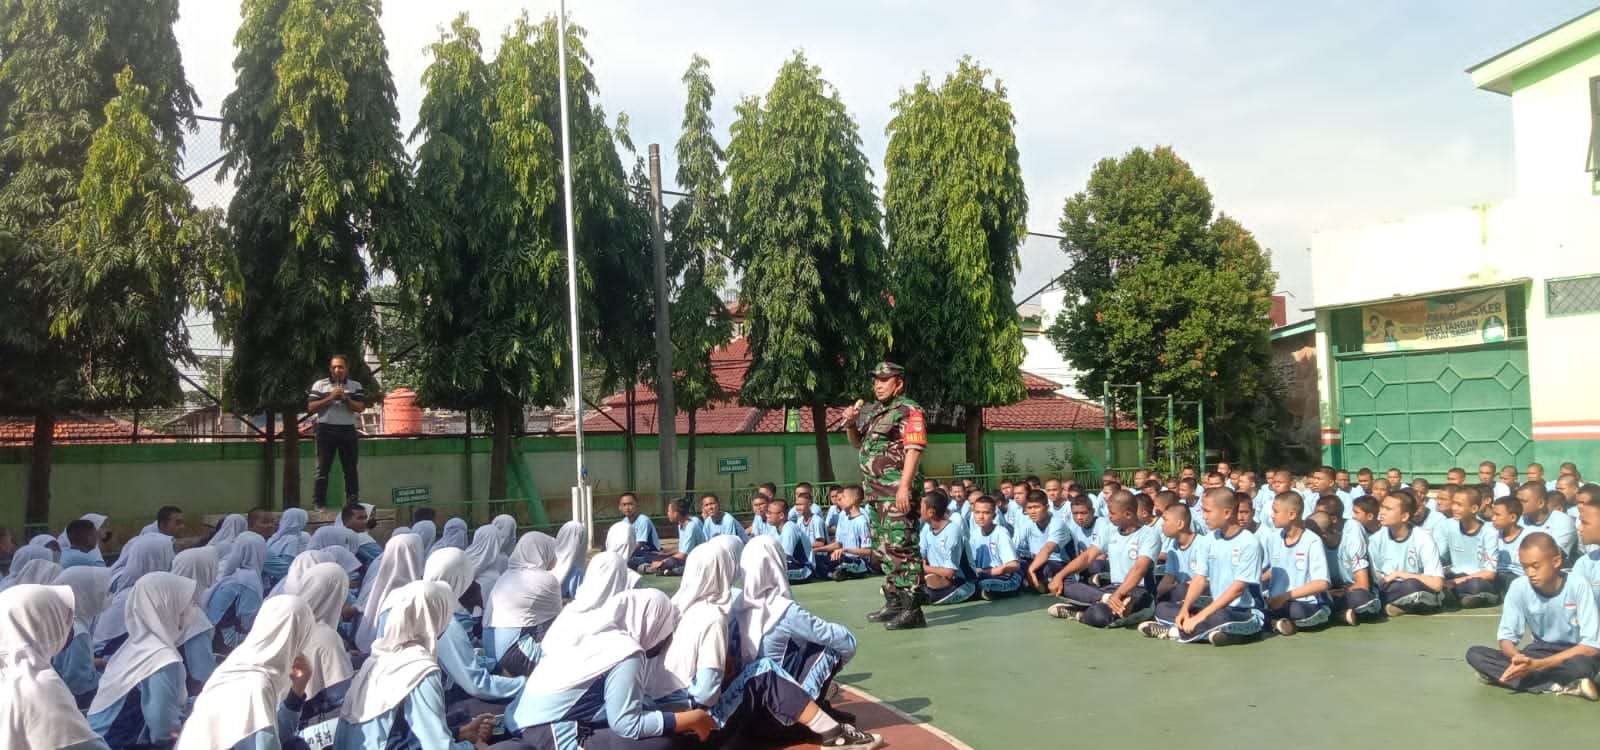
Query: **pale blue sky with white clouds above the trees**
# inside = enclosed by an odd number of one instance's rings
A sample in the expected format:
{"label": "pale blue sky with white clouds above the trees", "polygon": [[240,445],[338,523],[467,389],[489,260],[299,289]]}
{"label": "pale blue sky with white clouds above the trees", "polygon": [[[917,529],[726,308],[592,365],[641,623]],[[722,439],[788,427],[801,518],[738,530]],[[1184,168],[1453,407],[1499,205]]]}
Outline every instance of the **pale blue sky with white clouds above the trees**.
{"label": "pale blue sky with white clouds above the trees", "polygon": [[[402,131],[416,123],[424,48],[467,11],[494,53],[523,10],[554,0],[389,0],[382,26]],[[1310,302],[1320,229],[1482,203],[1512,186],[1510,99],[1472,86],[1469,66],[1594,10],[1594,0],[1506,3],[813,0],[808,3],[573,0],[589,30],[600,104],[627,112],[634,142],[672,147],[683,70],[696,53],[717,86],[723,133],[734,104],[762,96],[795,50],[822,70],[861,126],[882,186],[890,106],[963,54],[994,70],[1016,115],[1029,230],[1056,233],[1062,203],[1094,165],[1171,146],[1272,253],[1290,320]],[[182,0],[184,66],[214,115],[234,86],[238,5]],[[414,144],[413,144],[414,149]],[[1016,296],[1066,267],[1030,238]]]}

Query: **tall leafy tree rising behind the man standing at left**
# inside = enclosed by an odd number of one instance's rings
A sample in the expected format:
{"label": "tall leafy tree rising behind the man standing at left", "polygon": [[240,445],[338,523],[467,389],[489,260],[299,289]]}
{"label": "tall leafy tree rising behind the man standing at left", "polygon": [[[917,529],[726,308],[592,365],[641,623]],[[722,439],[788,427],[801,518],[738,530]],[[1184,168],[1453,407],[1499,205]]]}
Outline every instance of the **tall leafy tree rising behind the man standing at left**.
{"label": "tall leafy tree rising behind the man standing at left", "polygon": [[298,414],[328,357],[370,379],[363,249],[403,224],[406,155],[373,0],[245,0],[237,85],[222,102],[234,178],[232,278],[216,302],[234,342],[227,400],[280,411],[283,504],[299,505]]}

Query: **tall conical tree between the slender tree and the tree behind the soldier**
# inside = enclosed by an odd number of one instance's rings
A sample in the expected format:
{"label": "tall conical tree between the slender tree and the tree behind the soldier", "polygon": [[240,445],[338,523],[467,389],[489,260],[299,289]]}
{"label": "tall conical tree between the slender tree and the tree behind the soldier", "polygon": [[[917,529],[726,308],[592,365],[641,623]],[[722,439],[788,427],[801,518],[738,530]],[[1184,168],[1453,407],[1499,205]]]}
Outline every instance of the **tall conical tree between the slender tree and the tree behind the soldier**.
{"label": "tall conical tree between the slender tree and the tree behind the soldier", "polygon": [[866,390],[890,341],[872,170],[856,122],[802,53],[765,101],[736,112],[730,238],[752,358],[739,401],[811,406],[818,473],[830,481],[827,406]]}

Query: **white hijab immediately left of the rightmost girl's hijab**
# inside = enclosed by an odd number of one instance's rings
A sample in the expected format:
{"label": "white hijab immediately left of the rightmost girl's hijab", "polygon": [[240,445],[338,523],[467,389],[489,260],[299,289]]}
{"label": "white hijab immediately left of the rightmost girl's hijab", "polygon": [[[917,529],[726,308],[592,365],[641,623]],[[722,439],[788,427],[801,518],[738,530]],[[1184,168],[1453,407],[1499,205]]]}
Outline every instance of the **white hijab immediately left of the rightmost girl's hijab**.
{"label": "white hijab immediately left of the rightmost girl's hijab", "polygon": [[683,585],[672,595],[678,630],[664,659],[666,673],[672,678],[670,689],[694,684],[694,675],[702,668],[725,668],[733,574],[738,568],[723,545],[694,547],[685,560]]}

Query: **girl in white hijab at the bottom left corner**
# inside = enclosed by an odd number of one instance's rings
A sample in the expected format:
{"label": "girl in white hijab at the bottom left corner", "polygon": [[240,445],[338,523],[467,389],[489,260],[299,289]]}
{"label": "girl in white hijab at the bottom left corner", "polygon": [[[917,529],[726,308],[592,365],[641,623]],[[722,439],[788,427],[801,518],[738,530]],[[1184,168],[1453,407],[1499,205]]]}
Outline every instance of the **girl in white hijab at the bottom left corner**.
{"label": "girl in white hijab at the bottom left corner", "polygon": [[0,592],[0,612],[6,612],[0,617],[0,747],[106,750],[50,668],[50,659],[72,636],[72,588],[18,585]]}

